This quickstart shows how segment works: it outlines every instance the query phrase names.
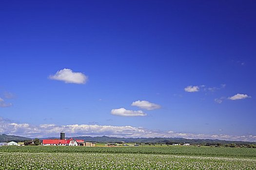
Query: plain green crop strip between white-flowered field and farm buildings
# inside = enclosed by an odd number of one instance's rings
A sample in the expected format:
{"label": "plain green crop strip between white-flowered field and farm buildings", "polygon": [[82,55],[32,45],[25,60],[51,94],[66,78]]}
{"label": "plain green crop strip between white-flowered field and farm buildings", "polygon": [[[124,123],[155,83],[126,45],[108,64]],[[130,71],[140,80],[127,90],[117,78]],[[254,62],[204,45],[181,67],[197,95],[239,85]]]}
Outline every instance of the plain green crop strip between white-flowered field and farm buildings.
{"label": "plain green crop strip between white-flowered field and farm buildings", "polygon": [[256,157],[255,148],[196,146],[164,147],[72,147],[72,146],[3,146],[0,153],[142,153],[197,156]]}

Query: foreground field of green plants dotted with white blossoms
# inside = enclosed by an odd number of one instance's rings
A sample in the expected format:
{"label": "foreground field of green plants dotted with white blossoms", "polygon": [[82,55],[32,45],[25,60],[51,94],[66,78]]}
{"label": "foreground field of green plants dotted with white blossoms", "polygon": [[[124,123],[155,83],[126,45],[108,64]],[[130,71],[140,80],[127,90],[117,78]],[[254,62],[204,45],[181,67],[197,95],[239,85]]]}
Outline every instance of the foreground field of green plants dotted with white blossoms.
{"label": "foreground field of green plants dotted with white blossoms", "polygon": [[255,170],[256,159],[129,153],[0,153],[0,170]]}

